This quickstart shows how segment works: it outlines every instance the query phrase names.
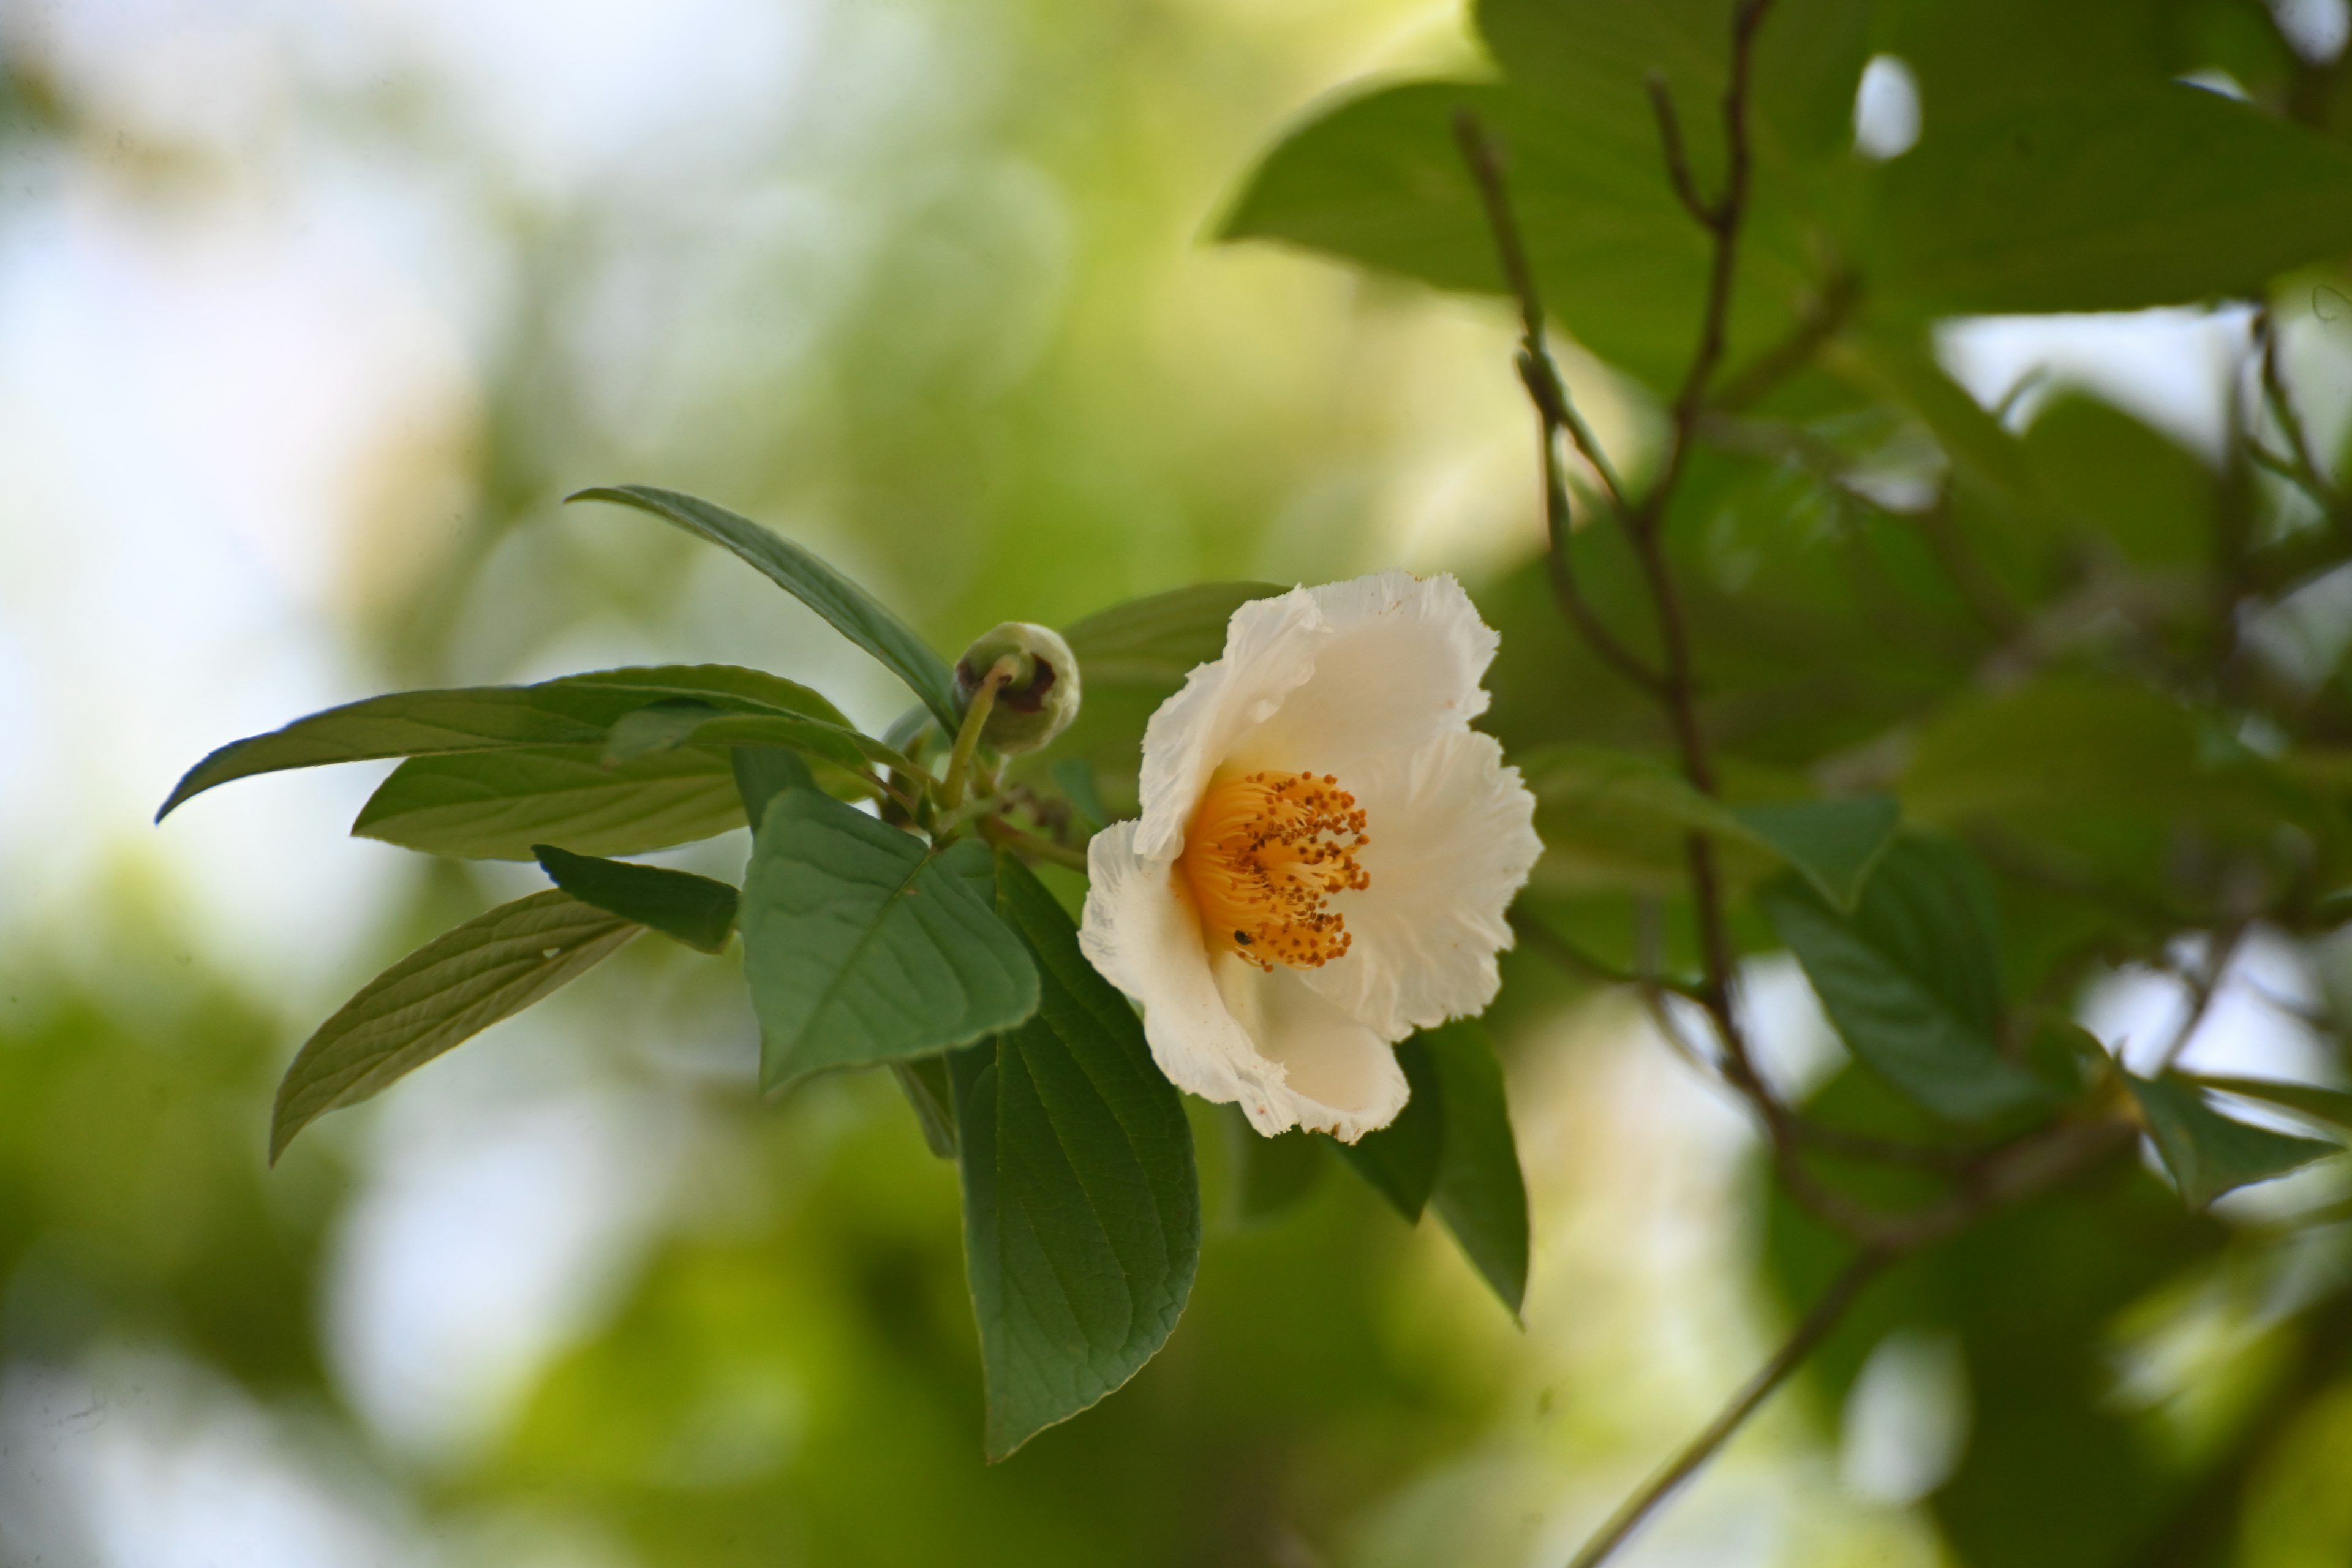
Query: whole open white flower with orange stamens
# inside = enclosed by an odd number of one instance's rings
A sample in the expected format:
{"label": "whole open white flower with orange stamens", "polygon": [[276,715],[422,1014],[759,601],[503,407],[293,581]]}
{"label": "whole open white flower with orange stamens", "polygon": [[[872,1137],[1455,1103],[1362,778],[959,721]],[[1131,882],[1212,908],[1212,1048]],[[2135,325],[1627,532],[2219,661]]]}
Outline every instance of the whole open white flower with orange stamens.
{"label": "whole open white flower with orange stamens", "polygon": [[1272,1135],[1404,1110],[1395,1041],[1477,1013],[1536,799],[1470,729],[1496,635],[1402,571],[1232,614],[1143,731],[1143,816],[1094,837],[1080,947],[1160,1070]]}

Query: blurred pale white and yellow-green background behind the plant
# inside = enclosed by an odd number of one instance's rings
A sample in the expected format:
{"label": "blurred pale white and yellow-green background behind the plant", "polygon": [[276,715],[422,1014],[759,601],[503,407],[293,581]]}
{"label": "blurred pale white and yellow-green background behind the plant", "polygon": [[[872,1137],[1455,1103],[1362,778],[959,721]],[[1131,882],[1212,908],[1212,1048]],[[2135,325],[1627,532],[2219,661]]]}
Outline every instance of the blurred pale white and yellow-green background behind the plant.
{"label": "blurred pale white and yellow-green background behind the plant", "polygon": [[[2345,45],[2340,0],[2279,16]],[[757,1103],[731,959],[642,943],[266,1171],[308,1030],[532,877],[343,837],[381,769],[148,825],[212,745],[402,684],[736,661],[894,717],[739,562],[560,508],[597,482],[750,512],[943,649],[1197,578],[1486,590],[1541,545],[1505,315],[1207,242],[1322,94],[1475,66],[1428,0],[0,5],[0,1563],[1555,1563],[1715,1408],[1783,1326],[1750,1131],[1543,973],[1496,1018],[1524,1328],[1336,1166],[1242,1225],[1202,1117],[1169,1352],[990,1469],[953,1168],[887,1077]],[[1858,113],[1915,134],[1884,71]],[[2213,451],[2241,341],[1945,357]],[[2352,341],[2288,348],[2333,449]],[[2310,1070],[2263,994],[2312,983],[2256,940],[2199,1060]],[[1748,1001],[1783,1081],[1835,1067],[1792,969]],[[1964,1434],[1950,1347],[1891,1342],[1623,1561],[1936,1563]]]}

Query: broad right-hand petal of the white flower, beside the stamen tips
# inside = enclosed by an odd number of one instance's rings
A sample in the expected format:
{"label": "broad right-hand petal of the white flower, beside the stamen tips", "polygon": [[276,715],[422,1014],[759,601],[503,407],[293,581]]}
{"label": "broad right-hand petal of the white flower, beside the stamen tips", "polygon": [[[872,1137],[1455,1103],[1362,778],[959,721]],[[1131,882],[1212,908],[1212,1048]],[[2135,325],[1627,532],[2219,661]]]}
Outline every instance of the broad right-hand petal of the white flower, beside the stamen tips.
{"label": "broad right-hand petal of the white flower, beside the stamen tips", "polygon": [[1385,1039],[1484,1011],[1503,983],[1494,954],[1512,945],[1503,912],[1543,853],[1519,769],[1463,731],[1341,783],[1369,818],[1371,886],[1334,900],[1355,940],[1305,985]]}

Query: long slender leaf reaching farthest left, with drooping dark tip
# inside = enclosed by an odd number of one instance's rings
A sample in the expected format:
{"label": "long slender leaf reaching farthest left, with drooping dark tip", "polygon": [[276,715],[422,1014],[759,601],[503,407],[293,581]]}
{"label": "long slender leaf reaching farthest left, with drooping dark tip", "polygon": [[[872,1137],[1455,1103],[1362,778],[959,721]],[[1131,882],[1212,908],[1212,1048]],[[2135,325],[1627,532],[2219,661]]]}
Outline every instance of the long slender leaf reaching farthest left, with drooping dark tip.
{"label": "long slender leaf reaching farthest left, with drooping dark tip", "polygon": [[160,823],[191,795],[233,778],[381,757],[433,757],[508,748],[593,745],[630,712],[677,701],[710,710],[793,712],[847,729],[833,703],[795,682],[736,665],[652,665],[564,675],[536,686],[395,691],[230,741],[179,780]]}

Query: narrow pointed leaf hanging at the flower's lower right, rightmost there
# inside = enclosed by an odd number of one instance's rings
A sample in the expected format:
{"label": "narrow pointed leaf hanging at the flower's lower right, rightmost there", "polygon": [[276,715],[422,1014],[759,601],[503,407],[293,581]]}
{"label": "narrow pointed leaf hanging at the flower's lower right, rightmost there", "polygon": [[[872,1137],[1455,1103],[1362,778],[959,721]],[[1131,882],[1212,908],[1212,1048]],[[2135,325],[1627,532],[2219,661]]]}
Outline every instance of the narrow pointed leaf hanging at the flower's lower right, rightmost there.
{"label": "narrow pointed leaf hanging at the flower's lower right, rightmost there", "polygon": [[1526,1178],[1510,1131],[1503,1063],[1486,1030],[1468,1018],[1423,1030],[1406,1044],[1428,1053],[1444,1105],[1444,1150],[1430,1204],[1470,1265],[1519,1316],[1526,1302]]}

